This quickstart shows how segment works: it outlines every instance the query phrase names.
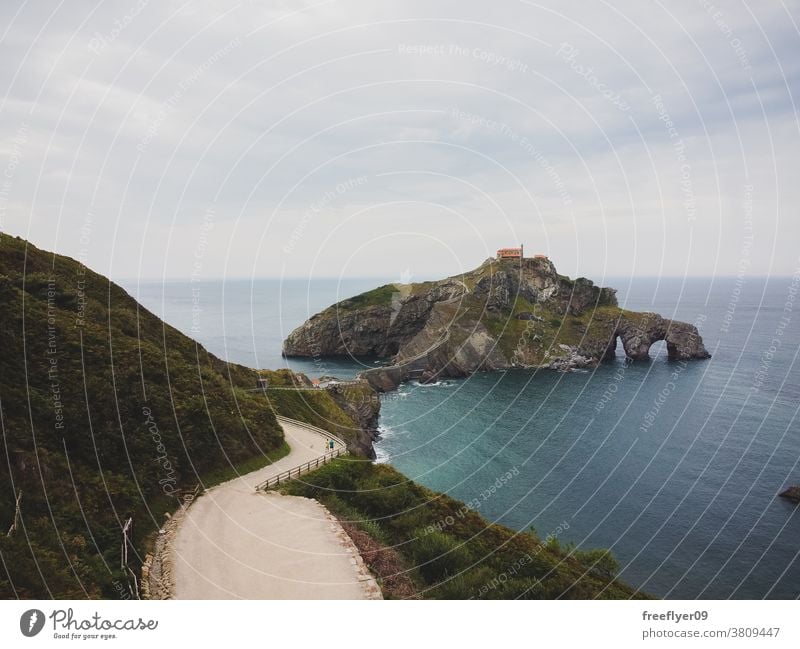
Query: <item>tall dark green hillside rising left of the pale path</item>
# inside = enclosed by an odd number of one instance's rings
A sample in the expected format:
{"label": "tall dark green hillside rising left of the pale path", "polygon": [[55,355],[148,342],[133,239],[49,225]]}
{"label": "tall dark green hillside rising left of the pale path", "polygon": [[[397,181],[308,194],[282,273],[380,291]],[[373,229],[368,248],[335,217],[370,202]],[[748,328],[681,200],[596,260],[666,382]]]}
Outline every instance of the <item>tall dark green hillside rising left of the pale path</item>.
{"label": "tall dark green hillside rising left of the pale path", "polygon": [[0,597],[116,596],[120,520],[141,551],[165,490],[285,452],[252,370],[78,262],[0,235],[0,300]]}

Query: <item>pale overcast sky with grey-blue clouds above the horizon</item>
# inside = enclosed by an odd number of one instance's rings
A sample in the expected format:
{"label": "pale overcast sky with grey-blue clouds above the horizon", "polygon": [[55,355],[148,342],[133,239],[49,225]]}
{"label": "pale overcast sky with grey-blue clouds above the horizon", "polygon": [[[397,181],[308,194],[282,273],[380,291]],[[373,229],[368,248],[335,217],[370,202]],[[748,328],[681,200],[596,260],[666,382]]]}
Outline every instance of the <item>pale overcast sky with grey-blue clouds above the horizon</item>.
{"label": "pale overcast sky with grey-blue clouds above the horizon", "polygon": [[[800,268],[800,3],[0,4],[0,231],[114,279]],[[0,242],[0,245],[1,242]]]}

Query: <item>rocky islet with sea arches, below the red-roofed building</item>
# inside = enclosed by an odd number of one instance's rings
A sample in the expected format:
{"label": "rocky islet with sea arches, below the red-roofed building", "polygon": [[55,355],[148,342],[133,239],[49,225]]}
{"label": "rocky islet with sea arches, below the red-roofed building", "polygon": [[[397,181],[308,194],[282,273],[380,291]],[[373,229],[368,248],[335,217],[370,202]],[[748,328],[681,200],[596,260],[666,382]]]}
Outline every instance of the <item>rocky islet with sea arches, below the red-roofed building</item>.
{"label": "rocky islet with sea arches, below the red-roofed building", "polygon": [[618,340],[633,360],[659,340],[672,359],[709,357],[693,325],[622,310],[615,293],[559,275],[548,259],[489,259],[459,277],[344,300],[293,331],[284,354],[391,359],[363,375],[381,391],[409,378],[590,367],[612,357]]}

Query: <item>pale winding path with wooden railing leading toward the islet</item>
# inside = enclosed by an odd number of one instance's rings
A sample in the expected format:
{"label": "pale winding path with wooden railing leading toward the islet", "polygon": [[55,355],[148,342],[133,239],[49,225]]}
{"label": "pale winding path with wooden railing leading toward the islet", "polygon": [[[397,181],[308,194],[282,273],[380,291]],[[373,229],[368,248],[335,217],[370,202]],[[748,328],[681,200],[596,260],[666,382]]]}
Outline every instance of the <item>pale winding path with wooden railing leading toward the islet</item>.
{"label": "pale winding path with wooden railing leading toward the islet", "polygon": [[325,453],[327,439],[282,421],[291,452],[209,489],[171,544],[174,599],[378,599],[338,521],[316,500],[257,484]]}

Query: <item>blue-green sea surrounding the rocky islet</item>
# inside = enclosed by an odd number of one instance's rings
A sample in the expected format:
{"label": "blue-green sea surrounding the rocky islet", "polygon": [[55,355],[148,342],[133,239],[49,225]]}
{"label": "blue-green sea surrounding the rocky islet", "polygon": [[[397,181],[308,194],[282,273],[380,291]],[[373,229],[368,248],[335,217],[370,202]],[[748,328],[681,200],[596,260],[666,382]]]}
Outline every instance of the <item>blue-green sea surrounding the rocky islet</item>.
{"label": "blue-green sea surrounding the rocky islet", "polygon": [[[375,359],[287,361],[281,342],[386,278],[122,282],[214,354],[353,377]],[[628,583],[674,599],[798,599],[800,277],[618,278],[620,304],[694,323],[707,361],[508,370],[382,397],[379,462],[492,522],[609,548]]]}

